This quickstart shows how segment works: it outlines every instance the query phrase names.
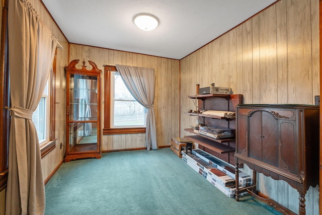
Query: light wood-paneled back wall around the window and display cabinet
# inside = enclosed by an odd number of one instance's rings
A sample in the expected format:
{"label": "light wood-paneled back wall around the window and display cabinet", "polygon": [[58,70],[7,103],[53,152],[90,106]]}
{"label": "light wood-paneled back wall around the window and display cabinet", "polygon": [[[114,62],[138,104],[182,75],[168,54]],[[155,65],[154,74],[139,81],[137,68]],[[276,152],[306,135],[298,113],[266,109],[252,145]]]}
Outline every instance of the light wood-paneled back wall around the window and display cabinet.
{"label": "light wood-paneled back wall around the window and display cabinet", "polygon": [[[171,137],[179,135],[179,67],[180,61],[163,57],[116,51],[85,45],[70,44],[69,61],[85,58],[94,61],[102,69],[102,100],[104,100],[104,64],[123,64],[154,68],[155,70],[155,98],[154,111],[156,121],[158,147],[169,146]],[[79,64],[79,63],[78,63]],[[77,65],[78,65],[77,64]],[[81,67],[81,65],[78,65]],[[88,68],[91,69],[91,68]],[[104,102],[102,110],[104,110]],[[102,112],[102,125],[104,120]],[[103,132],[102,132],[103,133]],[[102,136],[102,151],[144,148],[145,133],[114,134]]]}

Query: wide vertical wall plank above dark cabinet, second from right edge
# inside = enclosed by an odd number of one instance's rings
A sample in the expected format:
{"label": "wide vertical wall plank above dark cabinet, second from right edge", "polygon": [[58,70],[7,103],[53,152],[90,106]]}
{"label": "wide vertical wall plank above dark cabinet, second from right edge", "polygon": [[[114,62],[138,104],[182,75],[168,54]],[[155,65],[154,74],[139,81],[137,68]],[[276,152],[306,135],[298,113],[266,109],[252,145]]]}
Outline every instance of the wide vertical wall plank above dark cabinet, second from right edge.
{"label": "wide vertical wall plank above dark cabinet, second from right edge", "polygon": [[288,102],[302,104],[309,98],[312,103],[310,1],[286,3]]}

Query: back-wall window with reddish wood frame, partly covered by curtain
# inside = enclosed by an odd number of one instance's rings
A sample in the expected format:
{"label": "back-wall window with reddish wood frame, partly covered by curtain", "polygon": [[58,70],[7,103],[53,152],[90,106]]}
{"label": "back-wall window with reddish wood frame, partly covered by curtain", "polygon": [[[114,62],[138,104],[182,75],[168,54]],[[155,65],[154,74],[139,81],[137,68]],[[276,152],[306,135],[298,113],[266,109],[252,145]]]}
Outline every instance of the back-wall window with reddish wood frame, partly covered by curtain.
{"label": "back-wall window with reddish wood frame, partly covered by curtain", "polygon": [[106,65],[103,134],[145,133],[147,110],[126,88],[115,66]]}

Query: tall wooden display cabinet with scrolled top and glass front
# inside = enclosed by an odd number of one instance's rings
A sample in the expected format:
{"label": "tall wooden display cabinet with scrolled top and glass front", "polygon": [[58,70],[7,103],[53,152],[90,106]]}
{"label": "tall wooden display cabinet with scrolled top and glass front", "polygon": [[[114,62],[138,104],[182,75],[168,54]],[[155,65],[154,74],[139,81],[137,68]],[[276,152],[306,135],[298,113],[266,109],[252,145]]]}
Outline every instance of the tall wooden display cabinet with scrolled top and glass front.
{"label": "tall wooden display cabinet with scrolled top and glass front", "polygon": [[85,59],[81,69],[72,60],[66,71],[66,157],[65,162],[80,158],[101,158],[100,81],[101,69]]}

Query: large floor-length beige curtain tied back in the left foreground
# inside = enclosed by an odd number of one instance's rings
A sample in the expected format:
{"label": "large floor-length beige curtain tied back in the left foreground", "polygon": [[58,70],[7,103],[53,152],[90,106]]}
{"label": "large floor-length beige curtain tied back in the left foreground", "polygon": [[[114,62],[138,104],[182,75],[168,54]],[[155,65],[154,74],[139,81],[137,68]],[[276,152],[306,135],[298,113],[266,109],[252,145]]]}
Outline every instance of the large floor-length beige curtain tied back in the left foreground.
{"label": "large floor-length beige curtain tied back in the left foreground", "polygon": [[32,121],[44,91],[57,39],[26,0],[9,1],[11,127],[6,214],[44,214],[45,185]]}

